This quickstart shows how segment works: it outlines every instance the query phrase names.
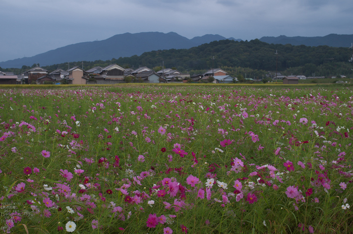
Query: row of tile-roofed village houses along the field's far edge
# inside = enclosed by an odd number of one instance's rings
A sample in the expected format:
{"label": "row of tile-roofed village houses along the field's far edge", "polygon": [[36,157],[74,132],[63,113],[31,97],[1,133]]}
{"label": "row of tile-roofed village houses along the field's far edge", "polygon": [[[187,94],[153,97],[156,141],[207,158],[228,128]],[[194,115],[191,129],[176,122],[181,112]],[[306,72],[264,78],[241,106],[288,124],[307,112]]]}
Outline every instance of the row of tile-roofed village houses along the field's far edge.
{"label": "row of tile-roofed village houses along the field's far edge", "polygon": [[[67,71],[63,69],[56,69],[48,72],[41,67],[32,68],[20,75],[13,73],[0,72],[0,84],[43,84],[44,82],[52,82],[54,84],[114,84],[125,83],[126,80],[144,83],[165,83],[165,82],[192,82],[209,81],[209,77],[213,76],[213,83],[233,83],[238,80],[236,77],[229,76],[222,69],[211,69],[204,74],[190,75],[182,73],[175,69],[162,69],[160,71],[153,71],[147,67],[140,67],[138,69],[124,69],[119,65],[111,64],[104,68],[97,66],[87,71],[80,67],[73,67]],[[127,79],[129,78],[129,79]]]}

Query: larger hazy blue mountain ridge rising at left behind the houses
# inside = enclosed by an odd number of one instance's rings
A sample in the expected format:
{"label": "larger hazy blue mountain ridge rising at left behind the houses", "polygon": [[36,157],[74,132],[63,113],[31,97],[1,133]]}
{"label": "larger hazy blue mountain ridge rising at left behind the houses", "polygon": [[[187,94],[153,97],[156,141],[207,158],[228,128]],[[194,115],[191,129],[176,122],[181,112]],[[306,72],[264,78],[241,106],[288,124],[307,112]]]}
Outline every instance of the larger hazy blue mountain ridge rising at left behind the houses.
{"label": "larger hazy blue mountain ridge rising at left behind the houses", "polygon": [[[117,34],[101,41],[81,42],[49,50],[32,57],[1,62],[2,68],[21,68],[23,65],[31,66],[40,64],[48,66],[76,61],[111,60],[119,57],[141,55],[144,52],[160,49],[189,49],[204,43],[224,40],[218,34],[206,34],[204,36],[188,39],[175,32],[141,32]],[[241,39],[230,38],[241,41]]]}

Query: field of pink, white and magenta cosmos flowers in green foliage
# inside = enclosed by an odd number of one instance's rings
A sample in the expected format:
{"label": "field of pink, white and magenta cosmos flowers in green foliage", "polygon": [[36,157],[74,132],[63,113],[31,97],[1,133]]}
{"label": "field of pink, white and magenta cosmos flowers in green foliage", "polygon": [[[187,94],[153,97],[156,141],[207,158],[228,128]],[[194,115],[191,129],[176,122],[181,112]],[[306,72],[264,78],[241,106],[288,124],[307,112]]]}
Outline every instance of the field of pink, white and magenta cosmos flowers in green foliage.
{"label": "field of pink, white and magenta cosmos flowers in green foliage", "polygon": [[353,88],[0,89],[4,233],[351,233]]}

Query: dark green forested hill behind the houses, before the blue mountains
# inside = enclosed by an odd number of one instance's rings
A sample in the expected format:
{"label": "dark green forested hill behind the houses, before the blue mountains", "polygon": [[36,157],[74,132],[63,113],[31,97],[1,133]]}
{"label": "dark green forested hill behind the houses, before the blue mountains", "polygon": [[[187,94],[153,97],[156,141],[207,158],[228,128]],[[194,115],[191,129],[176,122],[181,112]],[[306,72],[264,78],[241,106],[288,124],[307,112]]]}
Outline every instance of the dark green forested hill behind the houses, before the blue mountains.
{"label": "dark green forested hill behind the houses, before the blue mountains", "polygon": [[[352,75],[352,64],[348,62],[351,50],[347,47],[305,46],[268,44],[258,39],[251,41],[220,40],[190,49],[169,49],[145,52],[140,56],[120,57],[108,61],[83,62],[84,69],[94,66],[119,64],[125,68],[160,66],[175,67],[181,72],[203,71],[212,68],[249,68],[252,70],[275,71],[278,52],[279,72],[290,75],[312,76]],[[214,60],[212,57],[214,56]],[[70,67],[82,66],[82,62],[71,63]],[[22,70],[29,67],[24,66]],[[68,68],[68,64],[44,67],[52,71],[56,68]],[[288,74],[289,73],[289,74]]]}

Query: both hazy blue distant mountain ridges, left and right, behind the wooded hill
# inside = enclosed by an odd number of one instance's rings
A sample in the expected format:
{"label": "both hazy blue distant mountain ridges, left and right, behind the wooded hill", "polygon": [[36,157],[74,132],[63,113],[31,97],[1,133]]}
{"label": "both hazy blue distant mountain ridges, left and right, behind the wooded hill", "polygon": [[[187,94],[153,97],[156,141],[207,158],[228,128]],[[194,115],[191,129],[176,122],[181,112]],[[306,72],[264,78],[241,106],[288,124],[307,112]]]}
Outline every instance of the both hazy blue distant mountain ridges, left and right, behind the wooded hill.
{"label": "both hazy blue distant mountain ridges, left and right, behind the wooded hill", "polygon": [[[124,33],[114,35],[101,41],[71,44],[32,57],[23,57],[22,59],[0,62],[0,67],[21,68],[23,65],[32,66],[38,63],[41,66],[48,66],[78,61],[106,61],[114,58],[119,59],[119,57],[141,55],[144,52],[153,50],[189,49],[201,44],[224,39],[242,41],[242,39],[234,39],[233,37],[225,38],[218,34],[206,34],[204,36],[188,39],[175,32]],[[260,41],[269,44],[349,47],[350,43],[353,42],[353,34],[329,34],[323,37],[287,37],[281,35],[278,37],[261,37]]]}

